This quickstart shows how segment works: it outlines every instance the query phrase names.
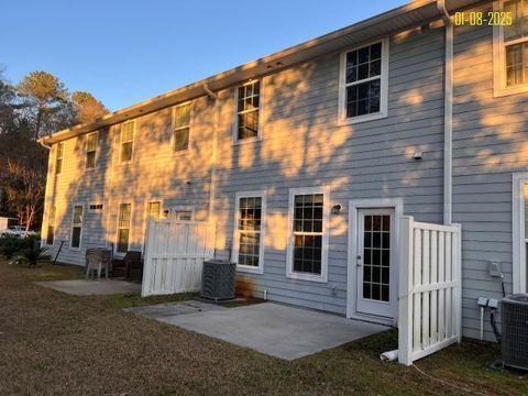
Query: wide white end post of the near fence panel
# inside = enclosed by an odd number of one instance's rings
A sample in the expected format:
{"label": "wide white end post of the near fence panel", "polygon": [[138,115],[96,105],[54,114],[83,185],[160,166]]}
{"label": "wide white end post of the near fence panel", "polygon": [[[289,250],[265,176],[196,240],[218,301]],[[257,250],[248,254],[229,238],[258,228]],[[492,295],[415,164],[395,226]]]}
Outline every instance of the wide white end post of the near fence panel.
{"label": "wide white end post of the near fence panel", "polygon": [[398,361],[405,365],[413,364],[413,217],[404,216],[399,246]]}

